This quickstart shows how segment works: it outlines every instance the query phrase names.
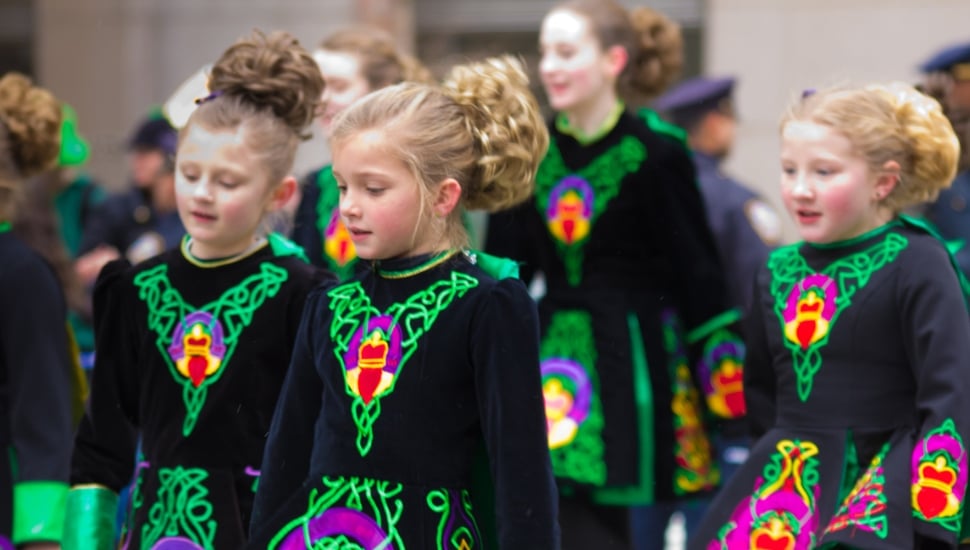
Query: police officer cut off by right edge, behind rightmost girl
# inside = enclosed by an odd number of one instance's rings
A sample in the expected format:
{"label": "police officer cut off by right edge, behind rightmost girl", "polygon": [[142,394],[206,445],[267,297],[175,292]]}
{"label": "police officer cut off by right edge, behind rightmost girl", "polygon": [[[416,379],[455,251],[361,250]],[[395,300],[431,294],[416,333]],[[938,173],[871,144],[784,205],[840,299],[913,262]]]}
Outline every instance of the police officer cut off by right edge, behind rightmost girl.
{"label": "police officer cut off by right edge, behind rightmost girl", "polygon": [[938,88],[947,118],[960,139],[960,165],[949,189],[925,209],[926,218],[954,247],[957,264],[970,276],[970,42],[944,48],[920,66],[926,88]]}

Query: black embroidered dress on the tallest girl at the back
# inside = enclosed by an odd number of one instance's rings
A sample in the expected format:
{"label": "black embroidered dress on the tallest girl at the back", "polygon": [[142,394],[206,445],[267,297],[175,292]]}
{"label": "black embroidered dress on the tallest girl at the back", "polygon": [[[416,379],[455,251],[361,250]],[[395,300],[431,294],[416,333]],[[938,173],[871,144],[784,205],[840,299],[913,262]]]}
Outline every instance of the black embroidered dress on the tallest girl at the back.
{"label": "black embroidered dress on the tallest girl at the back", "polygon": [[606,505],[707,492],[705,419],[744,414],[743,348],[688,152],[630,113],[592,142],[550,133],[534,198],[490,218],[486,249],[545,277],[560,487]]}

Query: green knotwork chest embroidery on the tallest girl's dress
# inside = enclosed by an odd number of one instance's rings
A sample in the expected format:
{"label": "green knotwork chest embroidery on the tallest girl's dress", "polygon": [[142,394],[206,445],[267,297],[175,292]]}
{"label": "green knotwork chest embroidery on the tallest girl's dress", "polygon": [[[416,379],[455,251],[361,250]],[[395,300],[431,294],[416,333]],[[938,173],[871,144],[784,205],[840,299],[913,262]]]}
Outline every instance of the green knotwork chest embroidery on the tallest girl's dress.
{"label": "green knotwork chest embroidery on the tallest girl's dress", "polygon": [[582,280],[583,247],[593,225],[617,193],[623,178],[640,169],[647,150],[637,138],[624,137],[578,172],[566,167],[555,139],[536,174],[536,208],[546,220],[566,280]]}

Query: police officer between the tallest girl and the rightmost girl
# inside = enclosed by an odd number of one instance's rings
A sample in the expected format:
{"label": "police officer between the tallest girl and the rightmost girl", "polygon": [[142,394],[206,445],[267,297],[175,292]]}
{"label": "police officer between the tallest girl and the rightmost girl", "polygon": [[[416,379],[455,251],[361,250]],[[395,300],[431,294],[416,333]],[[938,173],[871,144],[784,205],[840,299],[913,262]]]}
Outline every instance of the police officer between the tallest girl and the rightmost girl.
{"label": "police officer between the tallest girl and the rightmost girl", "polygon": [[729,291],[743,311],[757,269],[781,241],[781,220],[774,208],[721,171],[734,143],[734,84],[730,77],[689,79],[659,97],[653,107],[687,131]]}

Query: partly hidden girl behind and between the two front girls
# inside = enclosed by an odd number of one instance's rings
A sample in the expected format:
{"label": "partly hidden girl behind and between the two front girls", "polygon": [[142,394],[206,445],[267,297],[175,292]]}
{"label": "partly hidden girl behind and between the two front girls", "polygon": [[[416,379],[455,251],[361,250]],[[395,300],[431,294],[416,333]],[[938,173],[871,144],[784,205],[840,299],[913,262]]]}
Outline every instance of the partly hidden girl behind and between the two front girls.
{"label": "partly hidden girl behind and between the two front girls", "polygon": [[[398,51],[391,37],[367,27],[339,30],[313,52],[326,88],[320,123],[329,137],[333,119],[364,95],[399,82],[430,82],[431,73],[414,58]],[[327,267],[341,279],[354,273],[357,253],[337,212],[337,184],[326,165],[307,176],[297,207],[293,240],[310,261]]]}

